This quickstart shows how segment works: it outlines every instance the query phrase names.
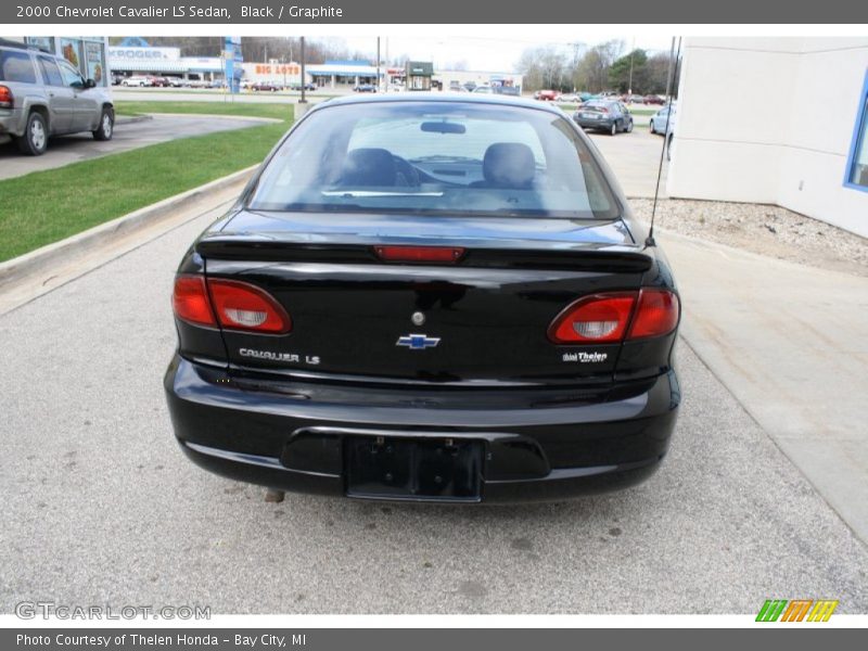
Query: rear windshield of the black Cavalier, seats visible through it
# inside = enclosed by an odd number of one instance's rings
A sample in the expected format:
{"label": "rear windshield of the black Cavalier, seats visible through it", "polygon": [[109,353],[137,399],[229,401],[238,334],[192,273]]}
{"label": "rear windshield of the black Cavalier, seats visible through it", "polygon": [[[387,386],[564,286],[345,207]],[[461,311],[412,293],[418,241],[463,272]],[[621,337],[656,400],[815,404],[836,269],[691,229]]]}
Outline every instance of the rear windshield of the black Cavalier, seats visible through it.
{"label": "rear windshield of the black Cavalier, seats visible through it", "polygon": [[620,216],[599,166],[566,117],[469,102],[384,102],[317,111],[269,162],[247,206]]}

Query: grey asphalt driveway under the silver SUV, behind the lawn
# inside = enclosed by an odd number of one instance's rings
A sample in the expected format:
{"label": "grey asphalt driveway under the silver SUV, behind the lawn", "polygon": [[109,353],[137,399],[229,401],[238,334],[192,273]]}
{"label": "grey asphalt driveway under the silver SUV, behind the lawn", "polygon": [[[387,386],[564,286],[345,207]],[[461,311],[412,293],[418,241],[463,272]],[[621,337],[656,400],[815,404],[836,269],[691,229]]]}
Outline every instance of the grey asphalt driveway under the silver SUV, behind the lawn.
{"label": "grey asphalt driveway under the silver SUV, behind the lawn", "polygon": [[[269,120],[270,122],[270,120]],[[89,132],[52,138],[48,151],[41,156],[24,156],[14,142],[0,144],[0,179],[24,176],[63,167],[89,158],[98,158],[129,150],[232,129],[243,129],[263,125],[263,119],[234,117],[214,117],[210,115],[178,116],[154,115],[152,119],[122,122],[115,129],[112,140],[99,142]]]}

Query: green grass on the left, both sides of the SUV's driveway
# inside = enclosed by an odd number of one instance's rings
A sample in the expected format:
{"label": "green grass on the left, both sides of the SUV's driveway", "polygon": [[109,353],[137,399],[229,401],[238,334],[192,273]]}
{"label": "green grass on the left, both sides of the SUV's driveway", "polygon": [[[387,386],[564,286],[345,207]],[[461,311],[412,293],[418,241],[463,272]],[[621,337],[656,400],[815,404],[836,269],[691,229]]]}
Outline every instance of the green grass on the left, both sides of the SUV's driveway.
{"label": "green grass on the left, both sides of the SUV's driveway", "polygon": [[2,180],[0,261],[260,162],[289,128],[292,114],[291,105],[238,102],[118,104],[118,113],[220,113],[288,122],[152,144]]}

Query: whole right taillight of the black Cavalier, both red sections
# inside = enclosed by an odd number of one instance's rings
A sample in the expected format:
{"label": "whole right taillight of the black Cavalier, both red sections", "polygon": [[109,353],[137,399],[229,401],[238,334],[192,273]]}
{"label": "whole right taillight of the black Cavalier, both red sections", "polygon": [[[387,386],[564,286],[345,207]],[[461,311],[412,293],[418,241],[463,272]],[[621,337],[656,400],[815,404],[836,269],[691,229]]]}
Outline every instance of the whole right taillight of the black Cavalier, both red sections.
{"label": "whole right taillight of the black Cavalier, both red sections", "polygon": [[609,292],[585,296],[549,327],[556,344],[611,344],[668,334],[678,324],[678,297],[666,290]]}

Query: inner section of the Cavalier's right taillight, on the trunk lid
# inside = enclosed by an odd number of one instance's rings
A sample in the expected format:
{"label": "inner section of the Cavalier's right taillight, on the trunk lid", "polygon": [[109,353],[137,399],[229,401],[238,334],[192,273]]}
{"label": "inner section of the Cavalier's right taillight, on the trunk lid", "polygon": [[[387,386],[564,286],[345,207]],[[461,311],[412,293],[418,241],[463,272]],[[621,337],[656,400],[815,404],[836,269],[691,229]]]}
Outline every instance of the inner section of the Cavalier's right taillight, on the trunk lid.
{"label": "inner section of the Cavalier's right taillight, on the trunk lid", "polygon": [[608,344],[624,339],[636,292],[585,296],[567,306],[549,327],[556,344]]}

